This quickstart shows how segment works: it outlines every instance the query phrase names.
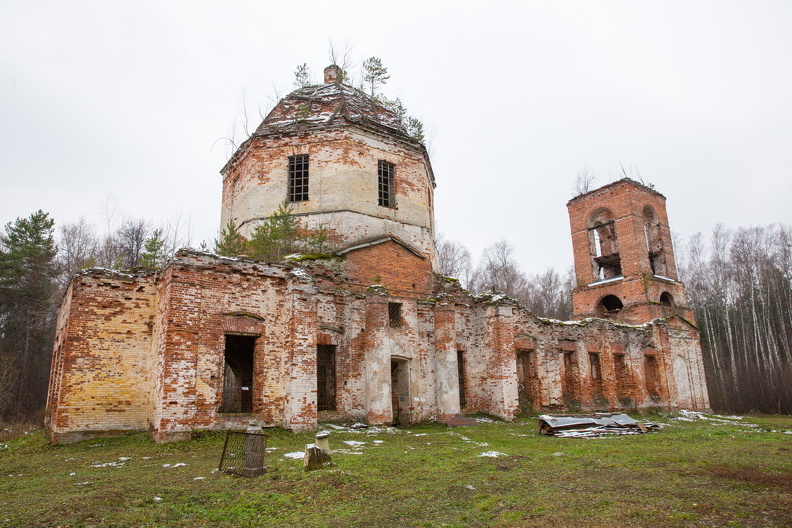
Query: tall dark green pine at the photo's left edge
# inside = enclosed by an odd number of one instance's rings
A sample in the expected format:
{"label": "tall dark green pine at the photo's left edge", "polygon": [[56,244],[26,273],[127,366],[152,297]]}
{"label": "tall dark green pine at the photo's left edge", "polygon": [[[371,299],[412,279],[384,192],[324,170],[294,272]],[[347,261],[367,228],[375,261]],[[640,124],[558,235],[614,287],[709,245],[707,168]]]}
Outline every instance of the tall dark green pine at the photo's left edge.
{"label": "tall dark green pine at the photo's left edge", "polygon": [[54,224],[37,211],[9,222],[0,235],[0,363],[11,376],[0,385],[12,395],[0,408],[5,417],[30,415],[46,397],[58,274]]}

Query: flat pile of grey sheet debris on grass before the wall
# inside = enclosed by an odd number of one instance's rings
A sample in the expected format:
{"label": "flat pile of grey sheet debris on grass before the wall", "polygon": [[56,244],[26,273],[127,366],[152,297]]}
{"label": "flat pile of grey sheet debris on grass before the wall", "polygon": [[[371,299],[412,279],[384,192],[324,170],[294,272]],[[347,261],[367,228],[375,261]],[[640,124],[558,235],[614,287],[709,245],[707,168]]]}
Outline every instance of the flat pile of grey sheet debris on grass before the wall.
{"label": "flat pile of grey sheet debris on grass before the wall", "polygon": [[659,424],[639,422],[626,414],[596,413],[587,416],[539,416],[541,434],[564,438],[643,434],[659,431]]}

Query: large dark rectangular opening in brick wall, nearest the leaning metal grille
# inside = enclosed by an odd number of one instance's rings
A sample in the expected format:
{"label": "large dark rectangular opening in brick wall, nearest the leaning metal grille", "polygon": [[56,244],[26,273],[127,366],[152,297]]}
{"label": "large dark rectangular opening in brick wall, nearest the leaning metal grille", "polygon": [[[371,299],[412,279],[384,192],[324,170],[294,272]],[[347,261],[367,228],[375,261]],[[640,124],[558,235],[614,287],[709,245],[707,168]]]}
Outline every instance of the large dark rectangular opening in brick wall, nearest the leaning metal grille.
{"label": "large dark rectangular opening in brick wall, nearest the leaning metal grille", "polygon": [[226,335],[223,400],[220,412],[253,412],[255,336]]}

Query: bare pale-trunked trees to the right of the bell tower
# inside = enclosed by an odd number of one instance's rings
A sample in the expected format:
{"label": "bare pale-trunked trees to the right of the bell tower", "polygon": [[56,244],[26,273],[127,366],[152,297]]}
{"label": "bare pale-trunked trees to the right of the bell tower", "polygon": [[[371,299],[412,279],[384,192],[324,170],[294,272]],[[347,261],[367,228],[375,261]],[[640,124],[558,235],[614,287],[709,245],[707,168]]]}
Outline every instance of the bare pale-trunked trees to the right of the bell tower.
{"label": "bare pale-trunked trees to the right of the bell tower", "polygon": [[717,226],[681,253],[712,408],[792,414],[792,227]]}

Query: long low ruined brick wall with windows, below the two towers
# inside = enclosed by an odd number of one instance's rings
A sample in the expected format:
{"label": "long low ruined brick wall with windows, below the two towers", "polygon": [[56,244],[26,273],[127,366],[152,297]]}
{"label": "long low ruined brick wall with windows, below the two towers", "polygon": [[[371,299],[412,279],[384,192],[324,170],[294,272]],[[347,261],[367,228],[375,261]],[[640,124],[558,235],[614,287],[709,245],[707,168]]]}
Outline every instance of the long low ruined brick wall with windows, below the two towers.
{"label": "long low ruined brick wall with windows, below the two towers", "polygon": [[708,406],[697,332],[684,322],[544,320],[453,281],[405,286],[389,262],[412,263],[415,280],[431,271],[395,241],[355,253],[355,270],[383,270],[378,283],[350,275],[347,261],[192,251],[158,277],[79,276],[53,363],[53,438],[148,429],[172,440],[252,418],[305,430],[320,419]]}

